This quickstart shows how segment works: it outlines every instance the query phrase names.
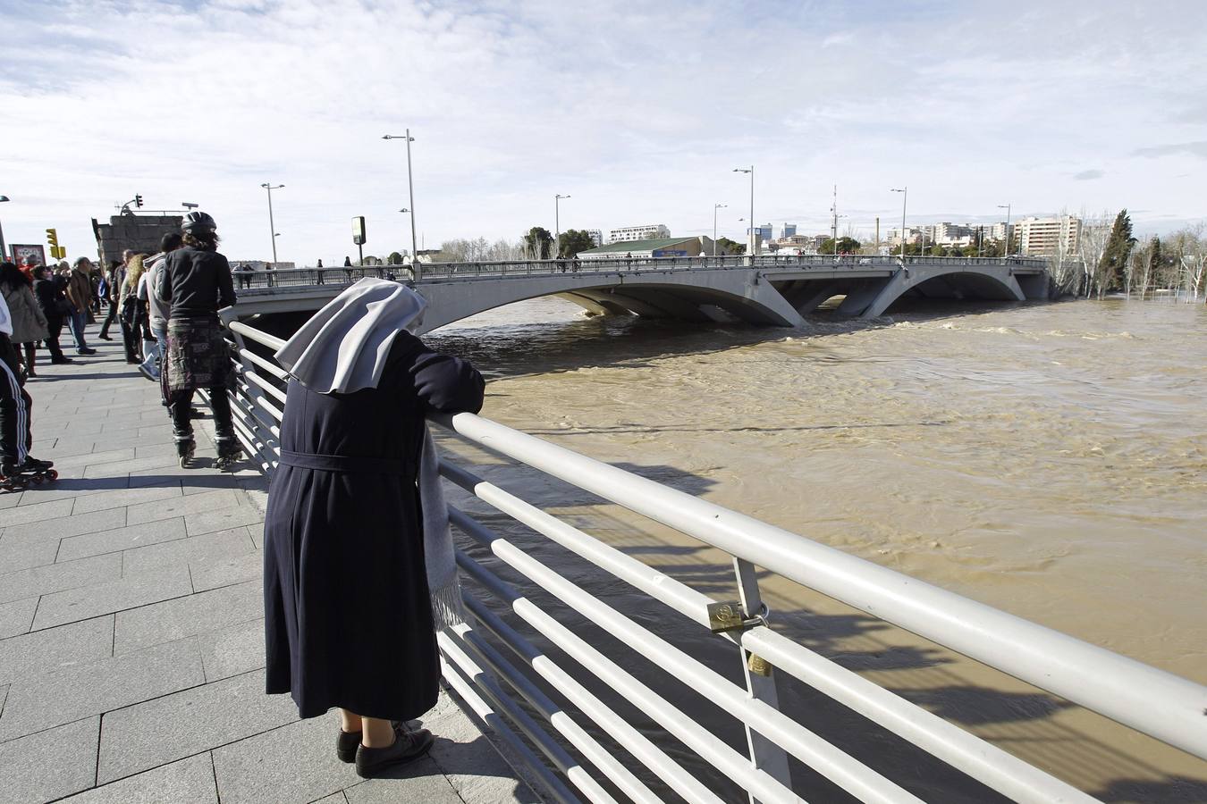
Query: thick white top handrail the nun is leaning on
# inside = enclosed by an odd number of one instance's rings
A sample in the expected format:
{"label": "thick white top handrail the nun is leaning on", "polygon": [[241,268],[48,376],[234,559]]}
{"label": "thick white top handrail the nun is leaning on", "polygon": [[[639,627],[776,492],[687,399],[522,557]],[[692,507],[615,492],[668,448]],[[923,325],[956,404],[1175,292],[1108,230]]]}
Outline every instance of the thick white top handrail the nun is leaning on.
{"label": "thick white top handrail the nun is leaning on", "polygon": [[1207,758],[1207,687],[473,413],[468,440]]}

